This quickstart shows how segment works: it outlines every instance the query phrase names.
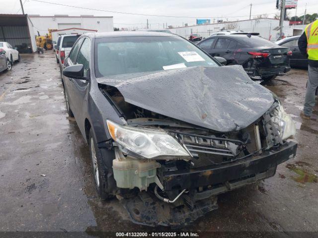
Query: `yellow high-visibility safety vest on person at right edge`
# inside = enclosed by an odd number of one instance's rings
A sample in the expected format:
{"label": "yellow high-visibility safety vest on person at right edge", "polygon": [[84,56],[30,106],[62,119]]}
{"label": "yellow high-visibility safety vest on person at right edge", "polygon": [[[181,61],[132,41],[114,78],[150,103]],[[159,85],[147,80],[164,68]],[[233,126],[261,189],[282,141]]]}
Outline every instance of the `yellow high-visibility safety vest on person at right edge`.
{"label": "yellow high-visibility safety vest on person at right edge", "polygon": [[309,60],[318,60],[318,20],[305,28],[307,37],[307,54]]}

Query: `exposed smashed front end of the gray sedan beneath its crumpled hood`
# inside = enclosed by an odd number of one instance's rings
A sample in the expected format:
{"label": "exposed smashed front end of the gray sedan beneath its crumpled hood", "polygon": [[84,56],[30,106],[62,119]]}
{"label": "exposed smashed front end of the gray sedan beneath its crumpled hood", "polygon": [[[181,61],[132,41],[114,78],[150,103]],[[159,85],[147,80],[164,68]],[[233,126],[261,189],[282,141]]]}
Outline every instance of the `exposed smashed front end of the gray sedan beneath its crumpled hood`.
{"label": "exposed smashed front end of the gray sedan beneath its crumpled hood", "polygon": [[[218,194],[273,176],[279,162],[275,158],[281,157],[276,148],[287,146],[286,139],[293,133],[293,128],[291,134],[286,134],[286,125],[282,127],[281,118],[287,116],[278,100],[249,126],[218,132],[127,103],[116,87],[99,84],[99,88],[132,131],[135,128],[136,133],[139,130],[149,134],[153,130],[159,131],[181,147],[176,156],[172,153],[151,158],[146,152],[129,149],[125,144],[130,143],[128,139],[113,137],[114,179],[126,195],[127,189],[136,192],[138,188],[140,191],[137,196],[126,196],[124,205],[132,219],[141,224],[161,221],[161,225],[184,225],[216,209]],[[109,122],[108,128],[111,126],[120,128]],[[117,129],[118,136],[124,137],[125,128],[121,129]],[[166,137],[161,138],[163,142],[155,141],[155,137],[152,137],[155,145],[160,142],[173,148],[174,142]],[[138,146],[145,143],[138,134],[133,140]],[[296,147],[287,153],[287,159],[294,156]],[[260,164],[250,166],[250,160],[260,161],[262,157],[273,159],[266,165],[262,160]],[[167,218],[166,214],[173,218]]]}

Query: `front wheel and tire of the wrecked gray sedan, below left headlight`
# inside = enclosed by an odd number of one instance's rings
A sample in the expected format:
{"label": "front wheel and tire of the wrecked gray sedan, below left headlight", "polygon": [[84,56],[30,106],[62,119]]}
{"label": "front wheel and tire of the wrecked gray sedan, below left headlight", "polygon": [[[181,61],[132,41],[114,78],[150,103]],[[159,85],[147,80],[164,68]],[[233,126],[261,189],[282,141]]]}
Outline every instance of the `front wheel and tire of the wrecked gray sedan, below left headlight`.
{"label": "front wheel and tire of the wrecked gray sedan, below left headlight", "polygon": [[107,191],[107,169],[104,166],[103,158],[100,149],[96,145],[93,129],[89,130],[89,152],[91,159],[91,171],[95,181],[95,187],[101,200],[106,200],[112,197]]}

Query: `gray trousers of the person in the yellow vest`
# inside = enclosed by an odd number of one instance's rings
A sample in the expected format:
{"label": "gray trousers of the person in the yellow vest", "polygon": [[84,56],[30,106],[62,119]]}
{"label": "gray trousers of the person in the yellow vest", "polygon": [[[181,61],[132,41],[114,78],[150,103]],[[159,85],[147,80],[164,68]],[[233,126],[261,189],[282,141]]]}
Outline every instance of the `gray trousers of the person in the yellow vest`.
{"label": "gray trousers of the person in the yellow vest", "polygon": [[315,93],[318,87],[318,68],[308,65],[308,75],[309,78],[306,89],[304,114],[311,117],[316,103]]}

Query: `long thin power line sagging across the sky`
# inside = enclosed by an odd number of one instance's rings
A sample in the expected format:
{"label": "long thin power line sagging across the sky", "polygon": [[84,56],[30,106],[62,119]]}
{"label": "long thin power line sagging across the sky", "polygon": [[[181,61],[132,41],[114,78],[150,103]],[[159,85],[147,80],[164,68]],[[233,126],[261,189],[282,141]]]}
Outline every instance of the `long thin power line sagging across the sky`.
{"label": "long thin power line sagging across the sky", "polygon": [[[216,18],[216,17],[213,17],[213,16],[208,16],[208,17],[200,16],[200,17],[197,17],[197,16],[167,16],[167,15],[141,14],[141,13],[122,12],[122,11],[110,11],[110,10],[104,10],[104,9],[96,9],[96,8],[88,8],[88,7],[81,7],[81,6],[73,6],[73,5],[67,5],[67,4],[55,3],[55,2],[49,2],[49,1],[42,1],[42,0],[31,0],[31,1],[49,3],[49,4],[54,4],[54,5],[60,5],[60,6],[69,6],[69,7],[75,7],[75,8],[80,8],[80,9],[86,9],[86,10],[112,12],[112,13],[118,13],[118,14],[139,15],[139,16],[158,16],[158,17],[176,17],[176,18]],[[275,14],[275,13],[267,13],[267,14],[270,15],[270,14]],[[260,15],[260,14],[258,14],[258,15]],[[252,16],[258,16],[258,15],[252,15]],[[247,15],[247,16],[249,16],[249,15]],[[230,18],[230,17],[245,17],[245,16],[223,16],[223,18]]]}

